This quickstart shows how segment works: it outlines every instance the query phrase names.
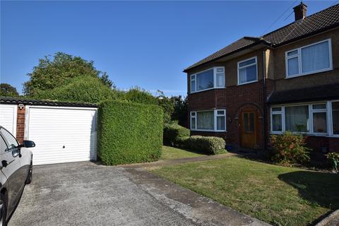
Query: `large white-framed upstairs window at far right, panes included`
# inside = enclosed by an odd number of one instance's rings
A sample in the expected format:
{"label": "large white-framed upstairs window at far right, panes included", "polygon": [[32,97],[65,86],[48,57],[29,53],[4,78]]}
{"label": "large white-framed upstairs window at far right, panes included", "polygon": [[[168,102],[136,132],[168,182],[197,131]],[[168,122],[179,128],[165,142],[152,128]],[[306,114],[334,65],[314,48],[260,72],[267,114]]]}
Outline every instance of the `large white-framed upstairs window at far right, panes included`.
{"label": "large white-framed upstairs window at far right, panes included", "polygon": [[331,40],[286,52],[286,76],[304,76],[332,69]]}

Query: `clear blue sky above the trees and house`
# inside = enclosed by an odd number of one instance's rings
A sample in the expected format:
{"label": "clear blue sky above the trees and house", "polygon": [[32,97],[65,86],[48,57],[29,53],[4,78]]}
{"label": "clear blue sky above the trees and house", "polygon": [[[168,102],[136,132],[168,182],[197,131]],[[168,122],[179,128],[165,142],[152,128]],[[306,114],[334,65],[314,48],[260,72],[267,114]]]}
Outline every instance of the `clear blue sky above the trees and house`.
{"label": "clear blue sky above the trees and house", "polygon": [[[304,3],[310,15],[338,1]],[[66,52],[95,61],[118,88],[138,85],[153,93],[186,95],[185,67],[240,37],[260,36],[291,23],[297,4],[1,1],[0,82],[14,85],[20,93],[38,59]]]}

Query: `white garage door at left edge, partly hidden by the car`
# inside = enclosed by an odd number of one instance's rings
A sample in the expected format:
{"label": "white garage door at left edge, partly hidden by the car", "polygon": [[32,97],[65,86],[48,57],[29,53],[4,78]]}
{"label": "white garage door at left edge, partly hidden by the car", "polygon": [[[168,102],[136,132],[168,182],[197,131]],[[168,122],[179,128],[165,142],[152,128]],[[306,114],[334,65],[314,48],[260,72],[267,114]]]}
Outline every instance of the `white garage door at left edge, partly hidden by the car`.
{"label": "white garage door at left edge, partly hidden by the car", "polygon": [[17,105],[0,105],[0,126],[16,136]]}

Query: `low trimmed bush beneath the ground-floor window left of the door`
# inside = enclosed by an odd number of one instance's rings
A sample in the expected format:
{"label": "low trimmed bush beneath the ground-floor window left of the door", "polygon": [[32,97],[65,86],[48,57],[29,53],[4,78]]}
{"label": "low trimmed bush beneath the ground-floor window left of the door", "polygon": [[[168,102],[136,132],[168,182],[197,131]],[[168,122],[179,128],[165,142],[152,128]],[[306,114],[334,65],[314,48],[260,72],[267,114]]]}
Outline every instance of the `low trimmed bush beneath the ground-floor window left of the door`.
{"label": "low trimmed bush beneath the ground-floor window left of the door", "polygon": [[220,154],[225,152],[226,142],[216,136],[190,136],[182,139],[185,148],[205,152],[208,154]]}

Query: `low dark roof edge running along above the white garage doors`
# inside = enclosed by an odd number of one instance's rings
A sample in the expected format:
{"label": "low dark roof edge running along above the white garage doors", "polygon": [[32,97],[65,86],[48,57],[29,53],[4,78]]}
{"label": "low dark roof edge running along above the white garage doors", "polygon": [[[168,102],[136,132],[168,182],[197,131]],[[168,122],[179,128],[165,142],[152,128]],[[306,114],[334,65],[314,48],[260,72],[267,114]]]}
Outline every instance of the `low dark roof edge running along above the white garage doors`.
{"label": "low dark roof edge running along above the white garage doors", "polygon": [[32,100],[26,97],[0,97],[0,105],[40,105],[40,106],[59,106],[59,107],[97,107],[96,104],[81,102],[61,102],[54,100]]}

